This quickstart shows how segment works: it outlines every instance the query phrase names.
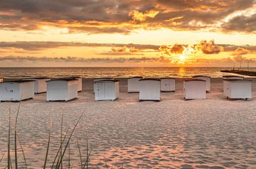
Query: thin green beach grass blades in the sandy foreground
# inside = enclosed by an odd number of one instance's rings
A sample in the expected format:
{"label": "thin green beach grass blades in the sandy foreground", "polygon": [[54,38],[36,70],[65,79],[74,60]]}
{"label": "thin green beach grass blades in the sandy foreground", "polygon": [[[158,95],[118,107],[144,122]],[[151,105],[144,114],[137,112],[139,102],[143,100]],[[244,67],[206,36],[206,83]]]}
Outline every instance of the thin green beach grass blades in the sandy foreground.
{"label": "thin green beach grass blades in the sandy foreground", "polygon": [[[8,126],[8,137],[7,137],[7,159],[6,159],[6,168],[8,169],[18,169],[21,163],[23,163],[24,166],[22,166],[23,168],[29,168],[29,165],[27,163],[27,159],[26,159],[26,153],[23,150],[23,145],[21,143],[21,138],[18,136],[18,115],[20,114],[20,109],[21,109],[21,102],[19,102],[18,104],[18,109],[16,112],[16,117],[15,117],[15,123],[14,123],[14,157],[11,156],[11,138],[12,138],[12,119],[11,119],[11,104],[9,104],[9,126]],[[51,142],[51,137],[52,137],[52,122],[50,119],[50,124],[49,124],[49,133],[48,133],[48,141],[47,141],[47,147],[46,147],[46,156],[44,158],[43,161],[43,169],[45,168],[55,168],[55,169],[62,169],[63,167],[63,160],[65,157],[65,154],[68,153],[68,168],[73,168],[73,164],[70,158],[70,141],[71,138],[73,138],[73,134],[75,132],[75,129],[77,128],[80,119],[82,119],[82,115],[83,113],[80,115],[78,121],[75,123],[75,126],[73,126],[73,129],[70,131],[70,129],[67,129],[67,131],[65,131],[65,134],[63,135],[63,115],[61,117],[61,126],[60,126],[60,146],[58,148],[57,153],[55,153],[55,158],[54,159],[50,159],[49,158],[49,153],[53,153],[51,152],[52,150],[50,149],[50,142]],[[69,132],[70,131],[70,132]],[[89,166],[89,157],[90,157],[90,153],[91,151],[89,151],[88,149],[88,140],[87,140],[87,150],[86,150],[86,160],[83,163],[82,162],[82,151],[80,149],[80,144],[79,141],[77,140],[78,143],[78,152],[79,152],[79,156],[80,156],[80,168],[85,169],[88,168]],[[23,162],[21,162],[21,160],[18,160],[18,146],[21,150],[21,154],[23,157]],[[4,153],[3,155],[1,155],[0,157],[0,164],[4,161],[6,153]],[[50,161],[53,160],[53,163],[50,163]],[[12,166],[12,164],[14,163],[14,166]]]}

